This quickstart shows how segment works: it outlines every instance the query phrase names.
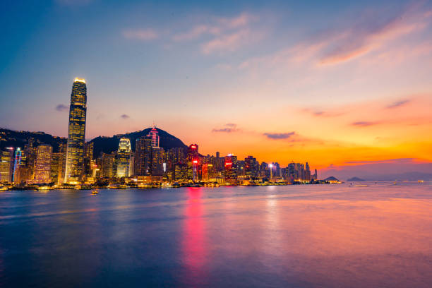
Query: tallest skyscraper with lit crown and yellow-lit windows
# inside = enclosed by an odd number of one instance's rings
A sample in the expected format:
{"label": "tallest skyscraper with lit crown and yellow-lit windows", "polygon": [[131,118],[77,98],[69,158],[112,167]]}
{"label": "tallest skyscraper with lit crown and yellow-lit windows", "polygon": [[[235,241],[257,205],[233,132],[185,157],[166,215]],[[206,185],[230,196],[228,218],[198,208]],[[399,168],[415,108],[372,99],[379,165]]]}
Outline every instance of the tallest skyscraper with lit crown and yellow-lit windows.
{"label": "tallest skyscraper with lit crown and yellow-lit windows", "polygon": [[78,184],[83,176],[85,114],[87,111],[87,86],[85,80],[73,81],[71,107],[69,109],[68,146],[64,181]]}

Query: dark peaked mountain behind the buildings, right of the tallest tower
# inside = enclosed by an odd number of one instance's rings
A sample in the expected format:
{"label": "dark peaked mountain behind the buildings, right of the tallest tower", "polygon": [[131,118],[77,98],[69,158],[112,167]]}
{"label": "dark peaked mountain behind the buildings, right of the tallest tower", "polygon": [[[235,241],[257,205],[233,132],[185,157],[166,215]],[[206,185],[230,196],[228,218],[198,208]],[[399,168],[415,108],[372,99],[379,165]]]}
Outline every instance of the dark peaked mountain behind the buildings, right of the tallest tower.
{"label": "dark peaked mountain behind the buildings, right of the tallest tower", "polygon": [[[171,148],[187,148],[179,138],[172,136],[171,134],[163,131],[160,128],[156,128],[157,132],[160,136],[160,147],[164,148],[164,150],[168,150]],[[152,130],[152,128],[146,128],[141,131],[125,133],[125,134],[117,134],[112,137],[99,136],[91,140],[94,143],[93,155],[95,157],[99,156],[101,152],[110,153],[117,148],[119,148],[120,138],[129,138],[131,140],[131,148],[135,150],[135,141],[136,139],[148,135],[148,133]]]}

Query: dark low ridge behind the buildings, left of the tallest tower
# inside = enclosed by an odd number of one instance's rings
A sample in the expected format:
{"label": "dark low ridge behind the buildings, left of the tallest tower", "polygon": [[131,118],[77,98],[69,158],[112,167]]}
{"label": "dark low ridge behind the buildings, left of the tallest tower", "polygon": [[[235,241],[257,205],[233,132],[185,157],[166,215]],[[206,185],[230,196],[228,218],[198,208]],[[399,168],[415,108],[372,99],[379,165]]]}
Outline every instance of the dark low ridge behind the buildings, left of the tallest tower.
{"label": "dark low ridge behind the buildings, left of the tallest tower", "polygon": [[29,131],[13,131],[9,129],[0,128],[0,149],[6,147],[20,147],[28,143],[28,139],[34,138],[34,145],[45,143],[52,145],[53,152],[59,151],[59,144],[66,144],[68,139],[63,137],[52,136],[44,132],[29,132]]}

